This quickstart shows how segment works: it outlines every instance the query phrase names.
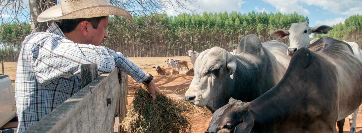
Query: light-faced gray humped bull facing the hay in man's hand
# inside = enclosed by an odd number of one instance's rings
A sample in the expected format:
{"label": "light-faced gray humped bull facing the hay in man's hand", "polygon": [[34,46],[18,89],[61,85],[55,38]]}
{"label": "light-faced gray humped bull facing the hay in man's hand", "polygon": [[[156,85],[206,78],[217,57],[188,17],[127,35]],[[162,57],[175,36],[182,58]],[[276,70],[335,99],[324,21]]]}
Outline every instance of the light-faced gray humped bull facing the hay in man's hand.
{"label": "light-faced gray humped bull facing the hay in man's hand", "polygon": [[[281,49],[273,52],[287,49],[285,44],[272,44]],[[271,47],[271,44],[262,45],[256,35],[248,35],[241,39],[236,55],[219,47],[200,53],[185,100],[214,111],[226,105],[230,97],[252,101],[274,87],[286,68],[264,46]]]}

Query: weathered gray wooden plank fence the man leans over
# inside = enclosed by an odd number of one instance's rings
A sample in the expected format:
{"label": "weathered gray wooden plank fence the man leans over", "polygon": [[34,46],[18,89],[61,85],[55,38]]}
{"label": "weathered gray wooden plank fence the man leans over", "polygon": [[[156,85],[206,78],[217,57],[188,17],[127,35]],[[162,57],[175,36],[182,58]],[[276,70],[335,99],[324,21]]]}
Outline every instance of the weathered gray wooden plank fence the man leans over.
{"label": "weathered gray wooden plank fence the man leans over", "polygon": [[95,78],[25,133],[113,133],[115,116],[127,113],[127,74],[118,73]]}

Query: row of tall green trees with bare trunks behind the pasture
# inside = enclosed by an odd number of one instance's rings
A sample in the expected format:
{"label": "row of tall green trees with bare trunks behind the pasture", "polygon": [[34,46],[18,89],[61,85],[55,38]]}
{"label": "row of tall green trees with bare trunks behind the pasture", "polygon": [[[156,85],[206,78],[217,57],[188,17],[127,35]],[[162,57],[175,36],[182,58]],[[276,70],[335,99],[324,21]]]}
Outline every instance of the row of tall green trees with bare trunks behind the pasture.
{"label": "row of tall green trees with bare trunks behind the pasture", "polygon": [[[353,15],[346,19],[345,24],[334,25],[333,30],[323,35],[361,44],[361,19],[360,15]],[[126,57],[186,56],[185,52],[188,50],[202,52],[214,46],[230,51],[236,49],[241,38],[248,34],[256,34],[262,42],[275,40],[269,36],[274,30],[287,30],[291,23],[308,20],[308,17],[297,13],[254,11],[245,14],[182,13],[177,16],[155,13],[133,16],[132,21],[123,17],[110,17],[109,37],[102,44],[122,52]],[[30,34],[31,29],[26,23],[7,25],[22,25],[22,28],[8,26],[8,30],[1,32],[1,61],[17,61],[21,42]],[[288,39],[276,40],[289,43]]]}

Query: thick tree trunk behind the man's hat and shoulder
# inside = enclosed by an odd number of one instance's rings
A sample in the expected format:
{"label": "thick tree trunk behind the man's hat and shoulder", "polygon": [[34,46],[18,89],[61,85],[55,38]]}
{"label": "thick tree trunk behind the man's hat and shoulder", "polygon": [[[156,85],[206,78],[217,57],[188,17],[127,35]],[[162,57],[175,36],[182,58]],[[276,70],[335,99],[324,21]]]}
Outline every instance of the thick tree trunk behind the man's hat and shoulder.
{"label": "thick tree trunk behind the man's hat and shoulder", "polygon": [[44,32],[48,29],[51,21],[38,22],[37,17],[40,13],[56,5],[56,0],[29,0],[31,33]]}

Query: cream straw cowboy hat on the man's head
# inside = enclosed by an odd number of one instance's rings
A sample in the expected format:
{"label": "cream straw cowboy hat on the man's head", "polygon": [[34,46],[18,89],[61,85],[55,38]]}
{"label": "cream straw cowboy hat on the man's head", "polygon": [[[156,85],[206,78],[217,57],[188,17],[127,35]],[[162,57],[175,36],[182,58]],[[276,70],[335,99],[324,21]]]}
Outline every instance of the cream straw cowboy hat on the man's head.
{"label": "cream straw cowboy hat on the man's head", "polygon": [[108,0],[60,0],[58,5],[39,14],[37,21],[93,18],[108,15],[119,15],[132,20],[129,12],[120,7],[109,5]]}

